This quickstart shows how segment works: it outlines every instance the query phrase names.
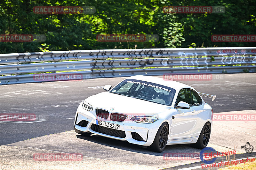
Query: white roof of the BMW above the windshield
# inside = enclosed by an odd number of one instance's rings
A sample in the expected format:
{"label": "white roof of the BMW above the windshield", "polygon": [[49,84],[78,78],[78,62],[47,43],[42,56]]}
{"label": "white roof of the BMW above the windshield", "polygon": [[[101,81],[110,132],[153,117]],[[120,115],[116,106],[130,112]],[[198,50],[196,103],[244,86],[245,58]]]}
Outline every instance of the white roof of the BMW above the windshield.
{"label": "white roof of the BMW above the windshield", "polygon": [[183,88],[190,88],[190,89],[195,90],[193,87],[191,87],[189,85],[186,85],[186,84],[183,84],[183,83],[180,83],[177,81],[169,80],[169,79],[154,77],[154,76],[137,75],[137,76],[128,77],[126,79],[136,79],[136,80],[142,80],[142,81],[156,83],[159,85],[165,85],[167,87],[171,87],[171,88],[175,89],[178,92],[180,91],[180,89],[183,89]]}

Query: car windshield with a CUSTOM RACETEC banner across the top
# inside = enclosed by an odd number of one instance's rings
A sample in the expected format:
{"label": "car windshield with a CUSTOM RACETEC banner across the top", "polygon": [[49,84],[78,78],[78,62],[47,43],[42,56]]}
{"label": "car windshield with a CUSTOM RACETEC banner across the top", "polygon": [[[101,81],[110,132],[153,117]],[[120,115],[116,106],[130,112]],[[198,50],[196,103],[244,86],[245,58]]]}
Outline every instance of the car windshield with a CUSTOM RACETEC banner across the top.
{"label": "car windshield with a CUSTOM RACETEC banner across the top", "polygon": [[135,79],[124,80],[110,92],[168,106],[175,94],[173,88]]}

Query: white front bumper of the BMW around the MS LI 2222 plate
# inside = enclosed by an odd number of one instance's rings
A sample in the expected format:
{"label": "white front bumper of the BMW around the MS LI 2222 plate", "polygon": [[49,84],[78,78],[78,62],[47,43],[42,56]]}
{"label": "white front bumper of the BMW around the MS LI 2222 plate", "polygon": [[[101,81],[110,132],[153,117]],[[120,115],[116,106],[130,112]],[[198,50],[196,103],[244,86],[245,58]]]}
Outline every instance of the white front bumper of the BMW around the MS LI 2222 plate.
{"label": "white front bumper of the BMW around the MS LI 2222 plate", "polygon": [[[103,126],[96,125],[96,120],[109,122],[120,125],[120,129],[111,129]],[[143,146],[149,146],[153,143],[157,130],[161,126],[162,122],[157,120],[153,123],[137,123],[130,120],[131,117],[127,117],[124,122],[116,122],[108,119],[102,119],[95,114],[94,111],[86,111],[79,105],[75,116],[75,128],[83,132],[91,132],[100,136],[109,137],[112,139],[128,141],[132,144],[138,144]],[[81,122],[84,122],[82,124]],[[87,121],[87,122],[86,122]],[[78,125],[79,124],[79,125]],[[86,127],[82,127],[85,126]],[[138,135],[141,137],[138,137]],[[140,141],[139,138],[143,141]],[[137,140],[135,140],[137,139]]]}

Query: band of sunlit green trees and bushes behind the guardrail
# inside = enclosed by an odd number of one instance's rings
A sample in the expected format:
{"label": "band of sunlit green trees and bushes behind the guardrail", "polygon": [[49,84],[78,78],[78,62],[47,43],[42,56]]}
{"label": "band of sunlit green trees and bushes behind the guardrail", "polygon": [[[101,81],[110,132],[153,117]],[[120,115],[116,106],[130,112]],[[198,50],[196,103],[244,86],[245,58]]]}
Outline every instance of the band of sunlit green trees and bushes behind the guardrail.
{"label": "band of sunlit green trees and bushes behind the guardrail", "polygon": [[[164,13],[170,5],[225,6],[222,14]],[[94,6],[94,14],[36,14],[34,6]],[[5,0],[0,1],[0,34],[44,34],[44,42],[0,42],[0,53],[255,46],[212,42],[213,34],[256,34],[251,0]],[[99,42],[97,34],[157,34],[157,42]],[[41,46],[41,44],[47,46]]]}

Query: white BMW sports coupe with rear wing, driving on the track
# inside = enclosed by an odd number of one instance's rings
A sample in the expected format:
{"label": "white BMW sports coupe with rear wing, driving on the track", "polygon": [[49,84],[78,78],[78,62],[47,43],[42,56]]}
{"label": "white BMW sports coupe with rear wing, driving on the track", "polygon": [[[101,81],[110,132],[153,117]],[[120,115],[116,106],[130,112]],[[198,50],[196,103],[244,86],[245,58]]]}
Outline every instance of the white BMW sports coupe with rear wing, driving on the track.
{"label": "white BMW sports coupe with rear wing, driving on the track", "polygon": [[77,108],[76,133],[92,133],[162,152],[166,145],[207,146],[213,110],[189,86],[152,76],[132,76],[85,99]]}

